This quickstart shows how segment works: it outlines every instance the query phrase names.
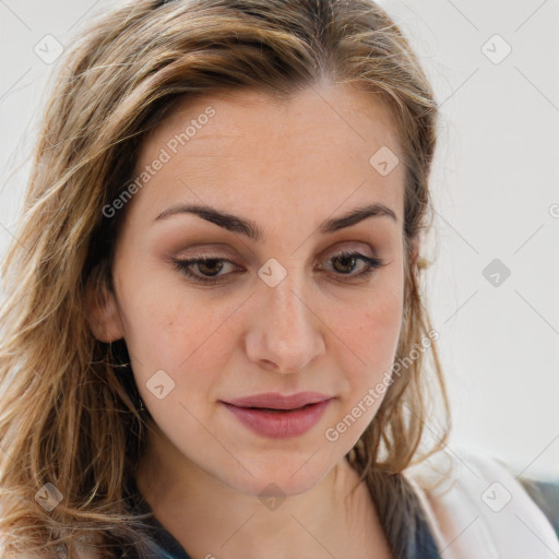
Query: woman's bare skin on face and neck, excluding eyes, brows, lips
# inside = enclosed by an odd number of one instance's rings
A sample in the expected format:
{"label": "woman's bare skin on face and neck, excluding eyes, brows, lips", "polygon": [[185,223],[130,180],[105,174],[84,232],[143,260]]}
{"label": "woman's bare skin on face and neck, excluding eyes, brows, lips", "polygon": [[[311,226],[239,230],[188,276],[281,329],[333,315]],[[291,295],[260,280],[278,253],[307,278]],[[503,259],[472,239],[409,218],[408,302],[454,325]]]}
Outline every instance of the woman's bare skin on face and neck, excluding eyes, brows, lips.
{"label": "woman's bare skin on face and neck, excluding eyes, brows, lips", "polygon": [[[308,88],[286,103],[247,91],[207,96],[183,103],[144,141],[138,174],[209,106],[215,116],[128,202],[115,293],[91,304],[96,337],[126,340],[155,420],[139,488],[194,559],[388,558],[373,500],[364,483],[350,492],[358,478],[344,457],[382,397],[337,440],[324,432],[395,358],[404,166],[381,176],[369,163],[382,146],[402,159],[393,121],[374,97],[347,85]],[[250,218],[264,238],[193,214],[154,223],[179,202]],[[379,216],[333,234],[318,230],[324,219],[373,202],[397,221]],[[340,261],[343,249],[385,265],[358,278],[367,264]],[[200,253],[235,264],[194,265],[198,275],[221,275],[214,286],[198,284],[171,259]],[[270,258],[287,272],[275,287],[258,275]],[[146,386],[160,369],[175,381],[163,400]],[[252,432],[219,402],[300,391],[335,400],[317,426],[287,439]],[[272,483],[286,497],[275,510],[259,498]]]}

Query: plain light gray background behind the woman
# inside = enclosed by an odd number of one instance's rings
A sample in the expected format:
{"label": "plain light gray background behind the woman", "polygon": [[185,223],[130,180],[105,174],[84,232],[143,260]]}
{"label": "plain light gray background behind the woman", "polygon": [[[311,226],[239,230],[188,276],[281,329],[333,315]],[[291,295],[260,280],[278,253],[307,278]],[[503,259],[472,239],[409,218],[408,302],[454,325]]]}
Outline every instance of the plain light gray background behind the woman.
{"label": "plain light gray background behind the woman", "polygon": [[[380,3],[411,37],[442,103],[428,282],[455,424],[450,447],[557,477],[559,0]],[[111,4],[0,0],[0,254],[15,233],[20,166],[49,71],[34,47],[47,34],[69,45]],[[495,63],[507,44],[511,53]],[[499,285],[484,276],[493,259],[511,272]]]}

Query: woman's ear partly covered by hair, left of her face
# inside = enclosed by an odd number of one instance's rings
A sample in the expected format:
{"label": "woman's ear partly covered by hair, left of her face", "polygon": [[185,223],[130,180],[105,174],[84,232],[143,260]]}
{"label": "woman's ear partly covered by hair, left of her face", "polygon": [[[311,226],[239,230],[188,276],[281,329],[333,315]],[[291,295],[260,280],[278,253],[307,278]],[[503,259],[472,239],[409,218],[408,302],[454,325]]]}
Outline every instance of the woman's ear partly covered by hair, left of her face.
{"label": "woman's ear partly covered by hair, left of her face", "polygon": [[92,281],[85,288],[87,323],[99,342],[115,342],[124,336],[124,329],[112,290],[104,282],[100,286]]}

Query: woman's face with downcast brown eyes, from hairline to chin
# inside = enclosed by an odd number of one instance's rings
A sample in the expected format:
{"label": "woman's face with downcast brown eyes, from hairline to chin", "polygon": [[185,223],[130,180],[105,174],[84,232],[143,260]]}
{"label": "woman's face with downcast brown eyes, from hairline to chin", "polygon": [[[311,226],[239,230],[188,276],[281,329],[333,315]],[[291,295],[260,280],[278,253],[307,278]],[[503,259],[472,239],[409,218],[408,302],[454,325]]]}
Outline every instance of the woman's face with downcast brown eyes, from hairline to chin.
{"label": "woman's face with downcast brown eyes, from hairline to chin", "polygon": [[124,337],[182,471],[296,495],[371,421],[403,310],[395,156],[386,109],[347,86],[190,100],[146,139],[132,198],[105,209],[126,221],[92,328]]}

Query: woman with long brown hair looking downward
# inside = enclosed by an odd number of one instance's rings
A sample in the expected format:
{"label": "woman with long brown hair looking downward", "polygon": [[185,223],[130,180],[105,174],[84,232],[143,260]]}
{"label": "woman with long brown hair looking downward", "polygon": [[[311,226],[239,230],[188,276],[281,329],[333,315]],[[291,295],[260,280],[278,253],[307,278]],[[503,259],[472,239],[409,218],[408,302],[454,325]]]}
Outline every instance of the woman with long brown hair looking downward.
{"label": "woman with long brown hair looking downward", "polygon": [[75,43],[3,271],[4,558],[558,552],[445,450],[436,123],[368,0],[140,0]]}

